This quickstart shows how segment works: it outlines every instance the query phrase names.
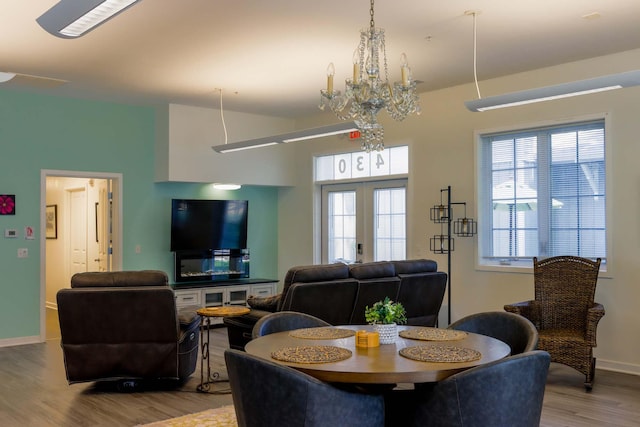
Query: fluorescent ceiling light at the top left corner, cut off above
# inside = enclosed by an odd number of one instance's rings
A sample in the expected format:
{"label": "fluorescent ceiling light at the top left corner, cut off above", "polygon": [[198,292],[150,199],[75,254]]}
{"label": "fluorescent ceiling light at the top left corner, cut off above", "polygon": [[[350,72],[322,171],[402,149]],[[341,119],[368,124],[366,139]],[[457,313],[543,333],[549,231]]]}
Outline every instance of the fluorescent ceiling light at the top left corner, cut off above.
{"label": "fluorescent ceiling light at the top left corner, cut off above", "polygon": [[60,0],[36,21],[57,37],[75,38],[140,0]]}

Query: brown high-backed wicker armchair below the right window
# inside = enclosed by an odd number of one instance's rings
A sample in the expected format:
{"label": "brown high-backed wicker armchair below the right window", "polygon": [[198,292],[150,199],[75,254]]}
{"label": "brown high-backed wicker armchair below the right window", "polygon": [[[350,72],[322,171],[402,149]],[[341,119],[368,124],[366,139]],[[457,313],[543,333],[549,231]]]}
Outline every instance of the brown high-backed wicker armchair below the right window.
{"label": "brown high-backed wicker armchair below the right window", "polygon": [[575,256],[534,258],[535,299],[504,306],[533,322],[538,349],[549,352],[552,362],[585,375],[587,391],[595,375],[596,328],[604,316],[604,307],[594,301],[600,261]]}

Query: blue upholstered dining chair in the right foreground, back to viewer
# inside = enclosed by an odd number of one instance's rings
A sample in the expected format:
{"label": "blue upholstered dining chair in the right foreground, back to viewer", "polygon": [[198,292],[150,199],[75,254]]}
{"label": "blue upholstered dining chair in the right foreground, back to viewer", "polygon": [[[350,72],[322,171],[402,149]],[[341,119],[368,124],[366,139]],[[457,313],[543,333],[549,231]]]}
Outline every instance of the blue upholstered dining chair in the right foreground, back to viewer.
{"label": "blue upholstered dining chair in the right foreground, back to viewer", "polygon": [[550,361],[534,350],[393,393],[387,417],[407,427],[538,427]]}

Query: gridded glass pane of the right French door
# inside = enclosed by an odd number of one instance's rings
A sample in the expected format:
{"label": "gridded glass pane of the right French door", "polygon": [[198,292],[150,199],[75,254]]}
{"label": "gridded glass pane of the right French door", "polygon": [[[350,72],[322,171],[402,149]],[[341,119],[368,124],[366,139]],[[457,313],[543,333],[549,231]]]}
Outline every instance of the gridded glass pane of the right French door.
{"label": "gridded glass pane of the right French door", "polygon": [[406,191],[374,190],[374,260],[403,260],[407,254]]}

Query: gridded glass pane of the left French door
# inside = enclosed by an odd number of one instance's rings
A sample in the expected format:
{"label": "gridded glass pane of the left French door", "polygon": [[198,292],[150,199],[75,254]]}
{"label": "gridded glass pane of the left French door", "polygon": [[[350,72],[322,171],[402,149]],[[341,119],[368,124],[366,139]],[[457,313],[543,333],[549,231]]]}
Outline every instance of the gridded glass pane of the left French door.
{"label": "gridded glass pane of the left French door", "polygon": [[327,249],[329,262],[356,260],[356,192],[330,192]]}

